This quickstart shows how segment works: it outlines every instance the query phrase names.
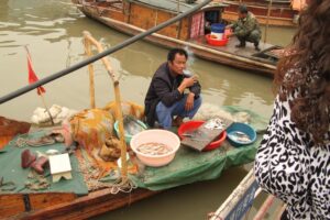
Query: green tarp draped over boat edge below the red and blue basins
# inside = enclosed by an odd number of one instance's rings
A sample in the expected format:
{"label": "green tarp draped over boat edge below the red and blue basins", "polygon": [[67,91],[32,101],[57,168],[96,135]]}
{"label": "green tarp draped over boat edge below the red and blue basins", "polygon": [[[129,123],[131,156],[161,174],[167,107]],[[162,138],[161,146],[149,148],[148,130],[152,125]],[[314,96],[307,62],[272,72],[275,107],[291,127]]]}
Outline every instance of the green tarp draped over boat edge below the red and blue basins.
{"label": "green tarp draped over boat edge below the red and blue basins", "polygon": [[[266,129],[267,120],[239,107],[223,107],[231,113],[248,112],[251,125],[261,131]],[[251,145],[233,147],[224,142],[221,147],[210,152],[197,152],[180,146],[172,163],[163,167],[145,167],[143,174],[130,175],[130,178],[142,188],[162,190],[185,184],[218,178],[222,170],[254,161],[262,135]]]}

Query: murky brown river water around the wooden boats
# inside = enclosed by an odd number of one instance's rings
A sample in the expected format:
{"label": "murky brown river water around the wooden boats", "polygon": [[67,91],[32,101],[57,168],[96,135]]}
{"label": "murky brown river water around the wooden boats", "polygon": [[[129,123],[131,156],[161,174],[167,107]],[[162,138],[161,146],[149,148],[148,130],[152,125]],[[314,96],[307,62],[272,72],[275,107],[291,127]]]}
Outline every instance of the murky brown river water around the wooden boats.
{"label": "murky brown river water around the wooden boats", "polygon": [[[69,0],[0,2],[1,97],[28,85],[24,45],[30,50],[36,75],[43,78],[85,58],[85,30],[106,48],[129,37],[85,18]],[[292,29],[272,28],[267,42],[286,45],[293,33]],[[109,57],[114,72],[121,75],[122,100],[143,103],[151,77],[166,55],[167,50],[140,41]],[[241,106],[264,117],[271,116],[272,79],[195,57],[191,57],[189,68],[200,77],[205,102]],[[113,100],[112,81],[100,62],[95,64],[95,70],[96,103],[102,107]],[[87,68],[44,87],[47,106],[89,108]],[[33,110],[42,106],[36,92],[31,91],[2,103],[0,116],[29,121]],[[218,208],[245,174],[245,168],[230,168],[217,180],[178,187],[96,219],[206,219],[206,215]]]}

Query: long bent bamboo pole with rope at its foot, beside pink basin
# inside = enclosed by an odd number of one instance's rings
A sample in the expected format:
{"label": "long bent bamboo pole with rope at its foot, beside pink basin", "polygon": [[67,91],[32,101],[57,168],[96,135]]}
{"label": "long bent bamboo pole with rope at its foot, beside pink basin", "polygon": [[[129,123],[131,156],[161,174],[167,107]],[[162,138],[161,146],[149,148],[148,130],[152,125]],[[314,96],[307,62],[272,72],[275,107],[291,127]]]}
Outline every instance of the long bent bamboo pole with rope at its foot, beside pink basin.
{"label": "long bent bamboo pole with rope at its foot, beside pink basin", "polygon": [[[101,44],[95,40],[91,34],[87,31],[84,31],[84,36],[86,41],[89,41],[94,46],[97,47],[99,53],[103,52]],[[114,99],[116,99],[116,116],[119,121],[119,133],[120,133],[120,143],[121,143],[121,178],[122,182],[125,183],[128,180],[128,163],[127,163],[127,142],[124,136],[124,127],[123,127],[123,116],[122,116],[122,108],[121,108],[121,97],[120,97],[120,89],[119,89],[119,80],[116,76],[113,69],[111,68],[110,62],[103,57],[101,58],[110,78],[113,81],[113,89],[114,89]]]}

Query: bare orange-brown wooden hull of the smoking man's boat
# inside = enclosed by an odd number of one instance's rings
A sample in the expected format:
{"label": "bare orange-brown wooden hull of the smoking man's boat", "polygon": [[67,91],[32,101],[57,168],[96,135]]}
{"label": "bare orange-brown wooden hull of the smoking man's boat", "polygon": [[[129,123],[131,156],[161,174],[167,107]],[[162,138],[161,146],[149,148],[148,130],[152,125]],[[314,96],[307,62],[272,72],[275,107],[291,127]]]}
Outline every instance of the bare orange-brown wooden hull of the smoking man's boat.
{"label": "bare orange-brown wooden hull of the smoking man's boat", "polygon": [[[28,132],[30,124],[0,117],[0,151],[18,133]],[[158,191],[143,188],[130,194],[111,194],[111,188],[91,191],[78,197],[73,193],[33,193],[10,194],[2,191],[0,174],[0,219],[87,219],[89,217],[114,210]]]}

